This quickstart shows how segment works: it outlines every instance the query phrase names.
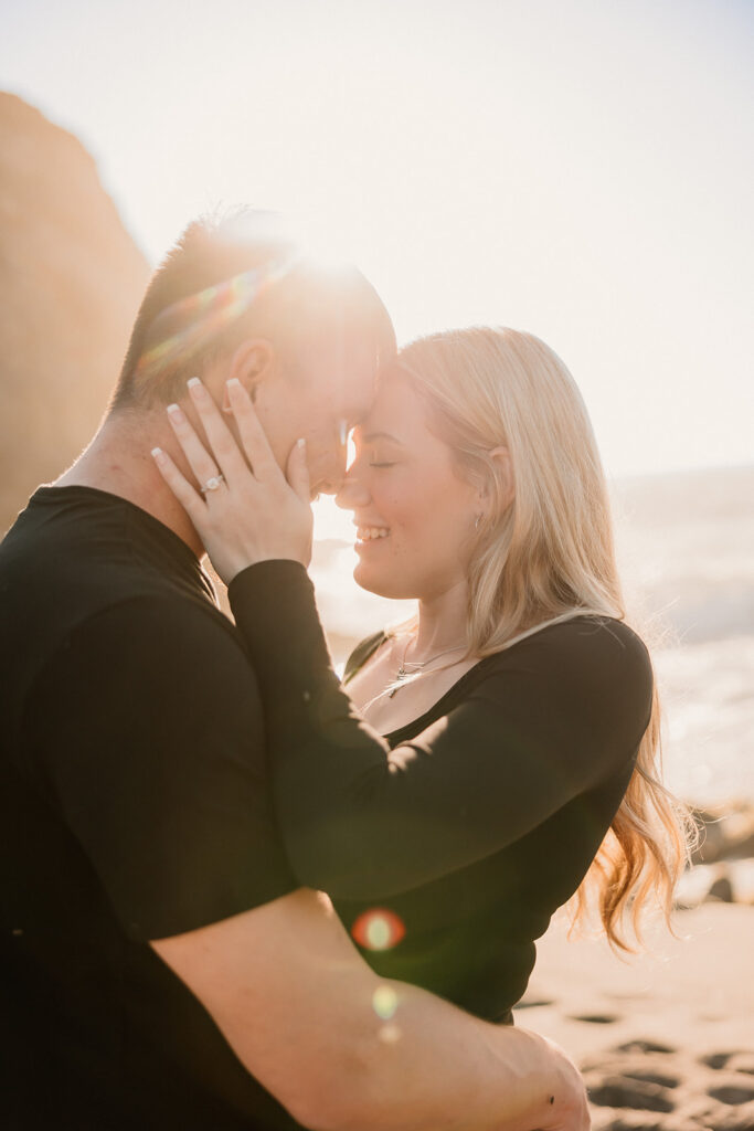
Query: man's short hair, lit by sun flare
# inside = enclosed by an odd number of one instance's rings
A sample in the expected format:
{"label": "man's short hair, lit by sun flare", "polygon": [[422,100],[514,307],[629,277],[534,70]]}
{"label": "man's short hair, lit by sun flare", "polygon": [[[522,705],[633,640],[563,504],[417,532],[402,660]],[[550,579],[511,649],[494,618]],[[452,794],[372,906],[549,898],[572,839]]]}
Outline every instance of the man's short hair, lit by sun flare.
{"label": "man's short hair, lit by sun flare", "polygon": [[168,404],[190,377],[244,339],[269,340],[287,370],[336,348],[344,371],[365,343],[390,361],[390,316],[355,267],[329,268],[279,217],[239,209],[193,221],[155,271],[139,308],[112,408]]}

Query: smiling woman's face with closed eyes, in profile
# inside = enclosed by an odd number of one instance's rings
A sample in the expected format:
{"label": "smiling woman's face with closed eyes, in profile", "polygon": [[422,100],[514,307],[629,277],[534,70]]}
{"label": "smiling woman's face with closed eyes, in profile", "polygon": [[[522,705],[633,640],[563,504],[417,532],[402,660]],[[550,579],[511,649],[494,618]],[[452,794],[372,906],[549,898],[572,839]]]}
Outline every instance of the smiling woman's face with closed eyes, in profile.
{"label": "smiling woman's face with closed eyes, in profile", "polygon": [[467,576],[479,492],[427,425],[410,385],[384,378],[354,434],[356,458],[337,498],[354,511],[354,577],[383,597],[431,601]]}

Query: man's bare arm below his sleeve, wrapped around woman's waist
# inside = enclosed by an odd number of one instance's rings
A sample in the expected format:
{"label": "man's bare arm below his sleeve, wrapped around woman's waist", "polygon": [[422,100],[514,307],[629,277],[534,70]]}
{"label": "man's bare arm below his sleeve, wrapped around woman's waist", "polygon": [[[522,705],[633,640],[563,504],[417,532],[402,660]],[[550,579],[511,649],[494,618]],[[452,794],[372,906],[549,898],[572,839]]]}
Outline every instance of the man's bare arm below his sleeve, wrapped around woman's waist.
{"label": "man's bare arm below his sleeve, wrapped around woman's waist", "polygon": [[[575,1068],[363,961],[327,897],[284,896],[153,941],[243,1063],[315,1131],[583,1131]],[[388,1021],[392,991],[397,1007]]]}

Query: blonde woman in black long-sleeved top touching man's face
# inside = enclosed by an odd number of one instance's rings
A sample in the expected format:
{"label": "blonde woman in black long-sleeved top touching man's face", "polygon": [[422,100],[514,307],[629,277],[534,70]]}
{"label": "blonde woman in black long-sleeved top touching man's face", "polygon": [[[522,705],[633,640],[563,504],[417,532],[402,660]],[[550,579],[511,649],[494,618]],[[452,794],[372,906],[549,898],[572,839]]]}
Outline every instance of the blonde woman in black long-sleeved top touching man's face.
{"label": "blonde woman in black long-sleeved top touching man's face", "polygon": [[[245,394],[228,391],[253,474],[219,459],[229,485],[205,502],[164,461],[163,474],[231,582],[294,870],[365,949],[384,944],[369,955],[379,973],[509,1021],[557,907],[577,892],[582,912],[592,890],[627,949],[626,913],[635,923],[652,889],[667,913],[684,861],[580,394],[544,343],[512,330],[418,340],[384,374],[340,501],[355,510],[356,580],[418,612],[356,649],[352,702],[298,564],[303,454],[294,494]],[[208,399],[197,406],[225,452]],[[217,474],[196,437],[184,450],[199,482]]]}

